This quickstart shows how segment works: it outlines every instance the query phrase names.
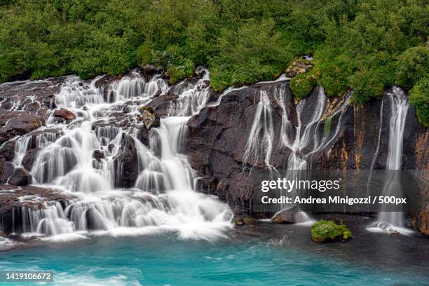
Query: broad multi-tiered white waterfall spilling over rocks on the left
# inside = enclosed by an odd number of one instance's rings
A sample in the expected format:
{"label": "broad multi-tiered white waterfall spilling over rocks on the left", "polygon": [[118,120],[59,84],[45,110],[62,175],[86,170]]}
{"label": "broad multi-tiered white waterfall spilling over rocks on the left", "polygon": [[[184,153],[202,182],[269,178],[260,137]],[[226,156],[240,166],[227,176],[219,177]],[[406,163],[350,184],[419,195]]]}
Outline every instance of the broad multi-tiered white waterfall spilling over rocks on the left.
{"label": "broad multi-tiered white waterfall spilling over rocks on the left", "polygon": [[[182,238],[224,236],[224,229],[231,227],[231,210],[193,191],[195,174],[181,154],[189,119],[183,115],[198,112],[207,101],[203,80],[182,90],[179,104],[169,109],[170,114],[181,116],[162,118],[159,128],[151,128],[147,147],[137,139],[135,126],[142,128],[135,119],[137,108],[157,90],[165,93],[167,84],[158,76],[146,82],[133,74],[104,93],[96,86],[99,79],[88,83],[67,78],[55,103],[76,118],[59,123],[50,116],[37,134],[17,140],[17,165],[27,149],[40,149],[32,168],[34,183],[69,194],[65,206],[47,201],[34,208],[22,207],[24,235],[50,240],[85,238],[88,233],[121,236],[157,231],[177,231]],[[116,118],[125,102],[130,104],[128,117]],[[125,120],[135,123],[123,127]],[[125,161],[120,160],[122,154]],[[134,187],[121,189],[127,160],[135,160],[138,176]]]}

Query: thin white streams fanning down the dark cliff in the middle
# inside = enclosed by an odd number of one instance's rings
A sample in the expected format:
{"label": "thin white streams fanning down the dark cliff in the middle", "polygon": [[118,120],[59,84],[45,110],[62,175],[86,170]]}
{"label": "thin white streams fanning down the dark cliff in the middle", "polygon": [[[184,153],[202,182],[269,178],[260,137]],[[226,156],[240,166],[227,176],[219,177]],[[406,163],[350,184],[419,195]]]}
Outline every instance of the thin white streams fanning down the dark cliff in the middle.
{"label": "thin white streams fanning down the dark cliff in the middle", "polygon": [[[274,130],[271,101],[265,90],[261,90],[260,93],[257,111],[255,112],[250,135],[247,139],[243,163],[257,162],[259,156],[262,154],[266,167],[272,170],[273,167],[270,165],[270,158],[273,151]],[[285,177],[295,179],[299,175],[298,170],[306,170],[308,168],[308,158],[312,154],[325,149],[339,134],[343,114],[348,107],[351,93],[346,95],[342,104],[339,104],[339,106],[325,118],[322,134],[319,132],[319,127],[327,106],[327,96],[323,88],[318,88],[315,107],[311,110],[312,116],[310,118],[305,118],[304,113],[308,113],[308,106],[313,104],[314,99],[306,97],[297,104],[297,124],[294,124],[292,118],[288,117],[286,93],[287,89],[285,84],[273,88],[273,98],[282,109],[280,142],[278,142],[277,148],[290,149],[291,154],[287,160]],[[312,100],[313,102],[311,102]],[[334,131],[332,131],[332,118],[337,115],[339,115],[338,123]],[[296,195],[294,192],[295,190],[292,190],[292,195]],[[280,196],[287,195],[290,195],[290,193],[280,193]],[[281,211],[288,207],[291,207],[291,205],[280,205],[278,210],[275,211]],[[311,222],[305,212],[300,212],[296,219],[298,222]]]}

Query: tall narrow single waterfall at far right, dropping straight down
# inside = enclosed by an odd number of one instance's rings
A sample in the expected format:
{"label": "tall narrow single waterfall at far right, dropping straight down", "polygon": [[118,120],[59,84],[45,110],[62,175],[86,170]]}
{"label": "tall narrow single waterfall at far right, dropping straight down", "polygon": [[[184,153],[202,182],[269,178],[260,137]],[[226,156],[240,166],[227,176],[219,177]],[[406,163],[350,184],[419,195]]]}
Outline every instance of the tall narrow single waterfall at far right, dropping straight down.
{"label": "tall narrow single waterfall at far right, dropping straight down", "polygon": [[[383,102],[386,99],[390,107],[389,144],[386,170],[401,170],[404,128],[409,104],[404,91],[395,86],[392,88],[392,93],[385,95]],[[383,105],[381,108],[381,118],[383,118]],[[380,126],[380,132],[381,128],[382,125]],[[374,160],[377,155],[378,147],[376,154],[374,154]],[[383,185],[383,190],[381,191],[381,196],[395,196],[397,198],[402,196],[400,174],[398,172],[387,172],[385,184]],[[406,234],[409,231],[407,229],[403,229],[403,217],[404,215],[402,212],[388,212],[386,211],[385,206],[381,205],[378,222],[372,224],[372,226],[369,226],[369,230],[400,232]]]}

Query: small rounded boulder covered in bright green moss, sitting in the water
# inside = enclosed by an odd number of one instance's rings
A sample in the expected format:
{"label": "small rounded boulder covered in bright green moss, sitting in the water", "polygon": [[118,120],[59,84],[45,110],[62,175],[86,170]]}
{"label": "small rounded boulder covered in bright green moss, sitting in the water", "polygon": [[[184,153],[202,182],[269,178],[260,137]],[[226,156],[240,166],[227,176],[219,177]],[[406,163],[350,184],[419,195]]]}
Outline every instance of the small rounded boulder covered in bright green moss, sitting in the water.
{"label": "small rounded boulder covered in bright green moss, sitting in the water", "polygon": [[344,224],[336,224],[334,221],[320,220],[311,226],[311,239],[315,243],[323,243],[336,240],[350,240],[352,233]]}

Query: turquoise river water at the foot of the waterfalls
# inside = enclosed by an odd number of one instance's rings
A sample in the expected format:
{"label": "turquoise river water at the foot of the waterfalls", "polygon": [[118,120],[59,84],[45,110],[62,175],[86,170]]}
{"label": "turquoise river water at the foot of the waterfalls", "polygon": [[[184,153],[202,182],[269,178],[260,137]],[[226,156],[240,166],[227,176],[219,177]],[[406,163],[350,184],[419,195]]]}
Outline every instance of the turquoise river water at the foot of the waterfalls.
{"label": "turquoise river water at the foot of the waterfalls", "polygon": [[371,233],[363,220],[346,217],[348,243],[313,243],[308,226],[267,223],[220,240],[175,233],[31,240],[1,252],[0,269],[53,270],[54,285],[429,285],[428,238]]}

